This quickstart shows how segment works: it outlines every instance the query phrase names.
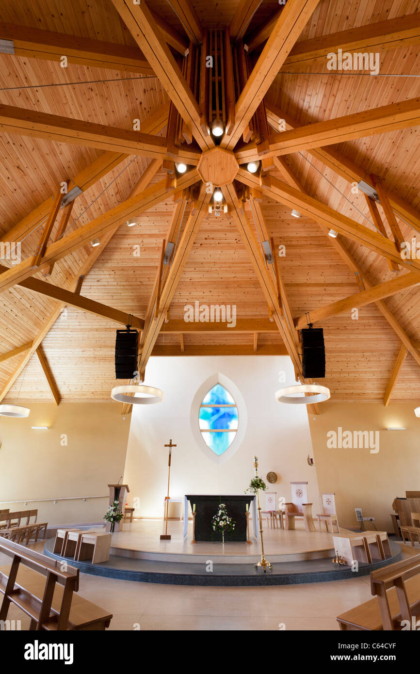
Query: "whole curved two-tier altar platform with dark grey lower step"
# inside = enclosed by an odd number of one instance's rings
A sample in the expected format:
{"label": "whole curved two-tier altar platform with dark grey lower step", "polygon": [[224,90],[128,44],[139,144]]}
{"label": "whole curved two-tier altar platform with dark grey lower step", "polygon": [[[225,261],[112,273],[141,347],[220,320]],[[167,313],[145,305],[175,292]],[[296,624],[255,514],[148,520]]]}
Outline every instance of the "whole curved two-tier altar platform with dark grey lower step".
{"label": "whole curved two-tier altar platform with dark grey lower step", "polygon": [[[301,522],[295,530],[264,528],[264,553],[272,571],[254,570],[260,560],[260,541],[247,543],[191,543],[191,524],[186,539],[183,524],[170,521],[171,541],[160,541],[161,520],[124,522],[123,531],[112,534],[109,561],[92,564],[73,561],[53,554],[54,540],[49,539],[44,552],[66,561],[82,573],[140,582],[206,585],[257,586],[324,582],[365,576],[376,568],[394,563],[401,555],[400,546],[390,541],[392,557],[360,562],[359,571],[332,563],[332,534],[306,532]],[[100,527],[98,527],[100,530]],[[345,531],[345,530],[343,530]]]}

